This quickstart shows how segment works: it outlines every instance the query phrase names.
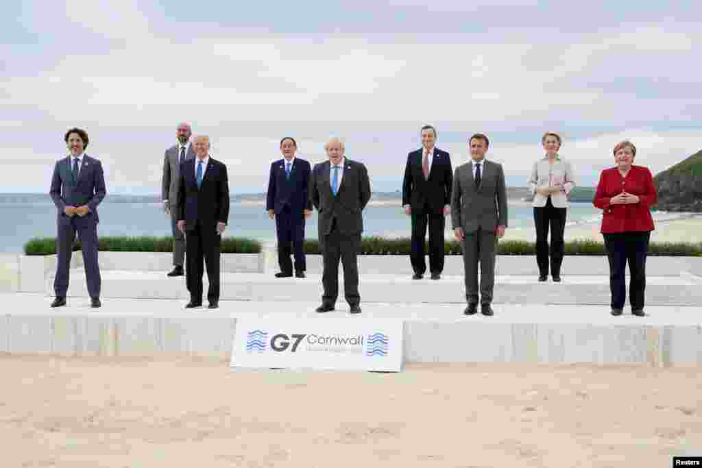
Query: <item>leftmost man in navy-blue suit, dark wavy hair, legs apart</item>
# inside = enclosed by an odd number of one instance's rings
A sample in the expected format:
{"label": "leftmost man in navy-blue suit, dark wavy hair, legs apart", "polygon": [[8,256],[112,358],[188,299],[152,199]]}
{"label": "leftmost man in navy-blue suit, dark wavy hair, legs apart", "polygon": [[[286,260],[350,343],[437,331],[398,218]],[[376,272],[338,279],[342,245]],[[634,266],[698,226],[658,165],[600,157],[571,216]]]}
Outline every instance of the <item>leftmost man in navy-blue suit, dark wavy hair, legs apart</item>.
{"label": "leftmost man in navy-blue suit, dark wavy hair, legs apart", "polygon": [[64,140],[69,154],[53,168],[49,194],[58,209],[56,221],[56,298],[51,307],[66,305],[66,292],[73,242],[78,234],[83,252],[91,307],[100,307],[100,267],[98,266],[98,205],[105,198],[105,175],[98,159],[85,154],[88,133],[71,128]]}

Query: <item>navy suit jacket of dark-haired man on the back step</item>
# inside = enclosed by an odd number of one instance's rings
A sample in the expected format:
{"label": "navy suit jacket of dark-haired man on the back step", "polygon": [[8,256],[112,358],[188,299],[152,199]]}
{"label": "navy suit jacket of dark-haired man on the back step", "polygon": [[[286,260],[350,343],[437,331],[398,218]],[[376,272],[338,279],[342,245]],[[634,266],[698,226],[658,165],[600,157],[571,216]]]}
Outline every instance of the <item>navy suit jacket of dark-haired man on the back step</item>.
{"label": "navy suit jacket of dark-haired man on the back step", "polygon": [[303,210],[312,210],[312,201],[307,196],[312,166],[308,161],[296,157],[290,178],[287,178],[285,162],[285,159],[279,159],[270,166],[265,209],[279,214],[288,206],[293,220],[304,222]]}

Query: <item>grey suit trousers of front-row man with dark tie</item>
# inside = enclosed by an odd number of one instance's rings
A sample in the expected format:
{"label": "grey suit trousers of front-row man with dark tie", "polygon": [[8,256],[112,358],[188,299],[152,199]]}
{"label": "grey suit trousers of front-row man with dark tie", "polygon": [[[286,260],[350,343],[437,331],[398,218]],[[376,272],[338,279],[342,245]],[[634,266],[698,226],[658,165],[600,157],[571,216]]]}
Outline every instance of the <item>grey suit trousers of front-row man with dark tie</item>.
{"label": "grey suit trousers of front-row man with dark tie", "polygon": [[[465,268],[465,298],[468,304],[490,304],[495,286],[495,254],[497,239],[494,232],[478,229],[466,232],[463,239],[463,267]],[[478,286],[478,263],[480,285]],[[479,296],[478,296],[479,291]],[[479,297],[479,301],[478,301]]]}

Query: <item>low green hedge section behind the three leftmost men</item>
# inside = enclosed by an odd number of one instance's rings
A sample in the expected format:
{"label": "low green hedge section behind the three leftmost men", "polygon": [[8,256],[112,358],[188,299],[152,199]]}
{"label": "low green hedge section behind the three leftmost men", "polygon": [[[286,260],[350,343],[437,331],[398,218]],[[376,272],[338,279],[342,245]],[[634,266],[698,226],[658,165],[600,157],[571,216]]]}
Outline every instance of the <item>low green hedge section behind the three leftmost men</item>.
{"label": "low green hedge section behind the three leftmost men", "polygon": [[[73,250],[80,250],[81,243],[74,243]],[[173,252],[173,238],[170,236],[126,237],[102,236],[98,239],[98,250],[104,252]],[[222,238],[222,253],[260,253],[260,242],[237,237]],[[55,237],[35,238],[25,243],[26,255],[54,255]]]}

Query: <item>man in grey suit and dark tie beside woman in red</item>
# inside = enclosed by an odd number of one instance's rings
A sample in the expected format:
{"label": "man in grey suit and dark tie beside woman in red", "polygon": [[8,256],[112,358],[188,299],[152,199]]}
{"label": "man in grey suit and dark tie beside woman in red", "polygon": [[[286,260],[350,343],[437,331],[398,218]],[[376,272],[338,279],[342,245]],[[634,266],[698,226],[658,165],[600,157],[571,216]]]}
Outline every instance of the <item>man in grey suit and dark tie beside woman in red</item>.
{"label": "man in grey suit and dark tie beside woman in red", "polygon": [[468,145],[471,160],[456,168],[451,191],[453,232],[463,243],[465,297],[468,300],[463,313],[477,313],[479,297],[482,314],[491,316],[494,314],[490,304],[495,284],[497,239],[505,235],[507,227],[505,173],[500,164],[486,161],[485,152],[490,142],[485,135],[472,135]]}

